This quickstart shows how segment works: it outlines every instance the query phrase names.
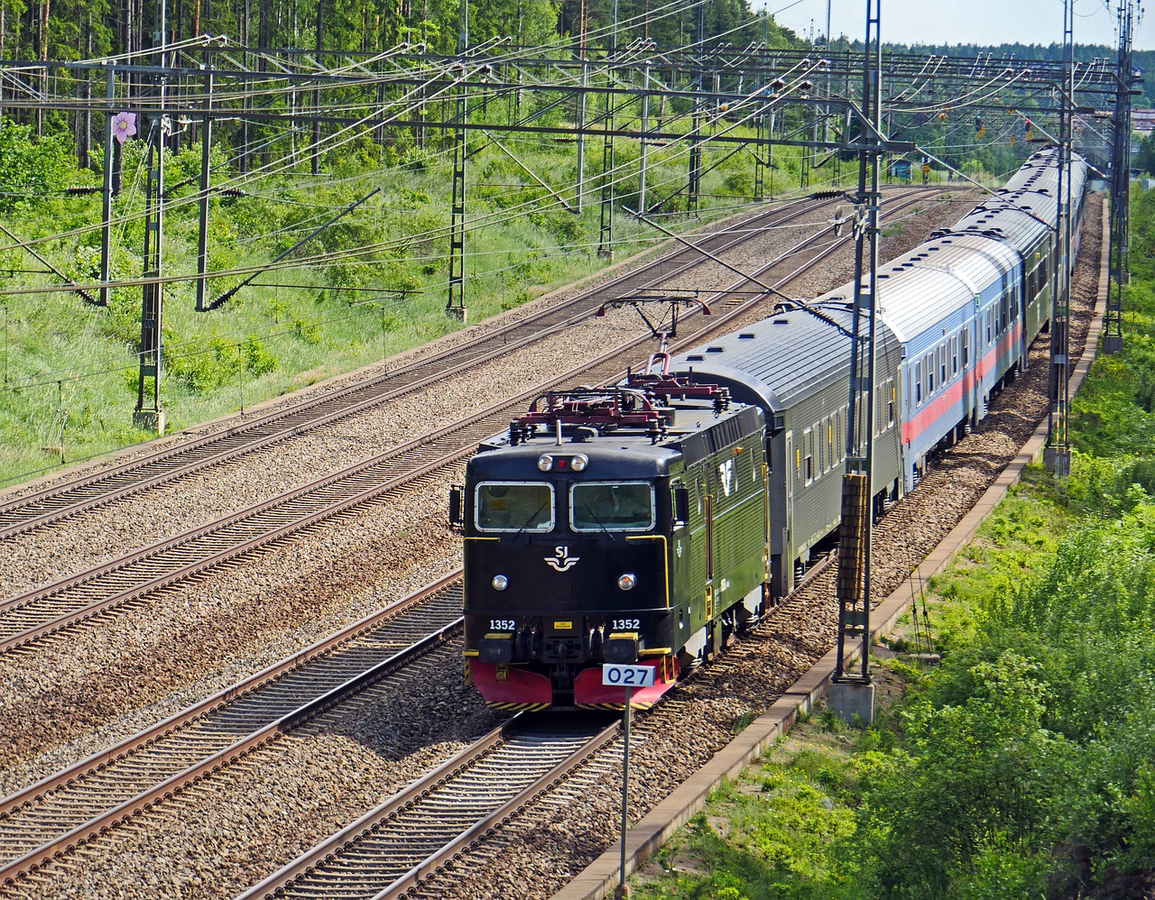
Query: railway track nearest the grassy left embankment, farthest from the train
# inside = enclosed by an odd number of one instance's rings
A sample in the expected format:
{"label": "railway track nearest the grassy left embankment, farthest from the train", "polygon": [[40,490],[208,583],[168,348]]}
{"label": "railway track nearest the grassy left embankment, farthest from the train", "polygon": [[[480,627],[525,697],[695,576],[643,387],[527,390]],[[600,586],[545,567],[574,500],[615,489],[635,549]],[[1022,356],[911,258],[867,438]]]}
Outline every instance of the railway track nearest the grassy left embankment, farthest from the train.
{"label": "railway track nearest the grassy left embankment, farthest from the train", "polygon": [[[922,200],[926,196],[926,189],[914,188],[904,193],[896,192],[887,200],[902,204],[910,202],[910,197]],[[825,205],[833,204],[834,201],[828,201]],[[738,223],[729,230],[705,235],[698,239],[696,243],[717,255],[748,240],[760,227],[780,227],[824,208],[824,204],[796,201],[784,208]],[[825,227],[820,228],[812,238],[819,237],[825,231]],[[114,503],[142,490],[256,452],[304,432],[356,415],[571,328],[574,323],[593,315],[608,300],[653,288],[703,262],[708,261],[703,260],[698,250],[690,248],[666,254],[608,284],[583,291],[565,303],[494,329],[476,340],[447,350],[427,360],[382,372],[356,384],[236,425],[222,433],[186,441],[142,459],[81,475],[45,490],[0,503],[0,539]]]}

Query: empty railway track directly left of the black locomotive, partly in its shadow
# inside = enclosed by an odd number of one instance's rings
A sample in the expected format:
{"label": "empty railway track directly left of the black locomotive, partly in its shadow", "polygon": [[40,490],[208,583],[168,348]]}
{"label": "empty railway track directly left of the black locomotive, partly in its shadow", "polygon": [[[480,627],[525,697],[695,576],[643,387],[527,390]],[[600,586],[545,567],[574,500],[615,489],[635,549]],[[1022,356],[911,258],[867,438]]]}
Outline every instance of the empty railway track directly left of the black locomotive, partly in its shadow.
{"label": "empty railway track directly left of the black locomotive, partly in its shadow", "polygon": [[[452,652],[460,628],[459,571],[3,798],[0,884],[76,850],[386,678],[415,677],[431,653]],[[420,676],[444,665],[439,658]]]}

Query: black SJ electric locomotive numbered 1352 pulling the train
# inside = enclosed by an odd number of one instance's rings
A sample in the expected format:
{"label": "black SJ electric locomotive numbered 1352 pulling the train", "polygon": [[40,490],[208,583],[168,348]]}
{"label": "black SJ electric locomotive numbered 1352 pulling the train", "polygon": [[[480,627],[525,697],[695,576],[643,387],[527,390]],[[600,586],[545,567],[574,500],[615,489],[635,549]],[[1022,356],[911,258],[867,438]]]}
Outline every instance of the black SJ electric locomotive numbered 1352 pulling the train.
{"label": "black SJ electric locomotive numbered 1352 pulling the train", "polygon": [[762,613],[762,411],[648,373],[539,397],[452,492],[464,655],[491,706],[621,708],[603,662],[654,667],[647,706]]}

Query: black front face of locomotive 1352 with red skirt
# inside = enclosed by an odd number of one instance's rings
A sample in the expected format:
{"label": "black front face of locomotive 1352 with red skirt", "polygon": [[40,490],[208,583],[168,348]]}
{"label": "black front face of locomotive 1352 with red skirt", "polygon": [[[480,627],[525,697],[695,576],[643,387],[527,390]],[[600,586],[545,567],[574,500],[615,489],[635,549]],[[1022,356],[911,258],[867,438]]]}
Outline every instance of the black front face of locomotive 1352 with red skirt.
{"label": "black front face of locomotive 1352 with red skirt", "polygon": [[497,440],[470,460],[465,657],[489,704],[614,705],[602,662],[654,665],[654,698],[672,683],[669,466],[680,456],[623,443]]}

